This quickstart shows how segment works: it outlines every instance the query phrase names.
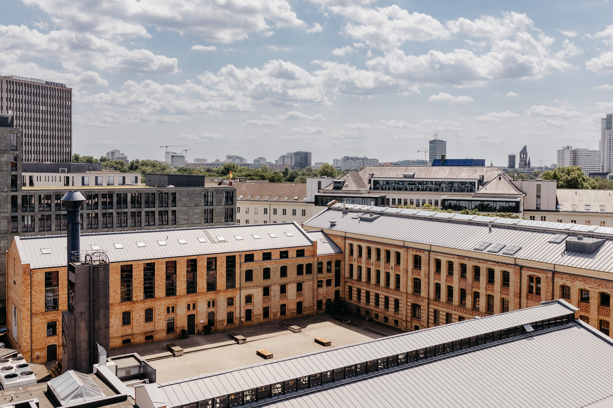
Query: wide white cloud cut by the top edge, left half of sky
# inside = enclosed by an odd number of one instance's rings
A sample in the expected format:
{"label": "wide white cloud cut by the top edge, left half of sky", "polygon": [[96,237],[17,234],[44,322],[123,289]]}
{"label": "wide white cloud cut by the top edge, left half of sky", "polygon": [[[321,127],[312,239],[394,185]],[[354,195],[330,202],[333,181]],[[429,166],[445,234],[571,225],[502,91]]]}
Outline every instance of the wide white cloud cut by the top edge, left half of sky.
{"label": "wide white cloud cut by the top edge, left half of sky", "polygon": [[[147,28],[189,33],[210,42],[230,43],[272,28],[302,28],[284,0],[24,0],[48,13],[53,25],[104,38],[149,36]],[[268,21],[273,26],[268,24]]]}

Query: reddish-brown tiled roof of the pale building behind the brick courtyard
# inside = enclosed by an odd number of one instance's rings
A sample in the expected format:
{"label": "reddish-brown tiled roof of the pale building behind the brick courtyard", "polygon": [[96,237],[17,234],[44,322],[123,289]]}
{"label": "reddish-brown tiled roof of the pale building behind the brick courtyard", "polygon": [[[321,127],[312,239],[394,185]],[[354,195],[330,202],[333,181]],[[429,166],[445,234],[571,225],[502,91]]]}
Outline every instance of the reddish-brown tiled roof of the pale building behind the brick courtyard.
{"label": "reddish-brown tiled roof of the pale building behind the brick courtyard", "polygon": [[236,187],[237,203],[248,202],[285,202],[306,203],[306,183],[254,183],[239,181],[232,183]]}

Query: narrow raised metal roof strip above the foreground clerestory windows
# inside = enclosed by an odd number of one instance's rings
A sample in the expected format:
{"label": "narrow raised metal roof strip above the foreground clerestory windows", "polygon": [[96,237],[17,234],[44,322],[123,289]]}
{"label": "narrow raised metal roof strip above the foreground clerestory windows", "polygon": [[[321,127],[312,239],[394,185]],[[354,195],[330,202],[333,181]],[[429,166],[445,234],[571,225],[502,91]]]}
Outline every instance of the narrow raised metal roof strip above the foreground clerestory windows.
{"label": "narrow raised metal roof strip above the foreground clerestory windows", "polygon": [[[573,315],[577,310],[565,301],[544,302],[540,306],[512,312],[465,320],[449,325],[402,333],[381,339],[322,350],[297,357],[285,358],[245,368],[233,369],[202,377],[159,385],[166,396],[167,406],[178,407],[204,399],[229,395],[270,385],[284,380],[327,372],[335,368],[364,363],[411,350],[424,349],[445,342],[466,339],[479,334],[504,330],[527,323]],[[299,404],[300,406],[300,404]],[[371,405],[380,406],[380,405]]]}

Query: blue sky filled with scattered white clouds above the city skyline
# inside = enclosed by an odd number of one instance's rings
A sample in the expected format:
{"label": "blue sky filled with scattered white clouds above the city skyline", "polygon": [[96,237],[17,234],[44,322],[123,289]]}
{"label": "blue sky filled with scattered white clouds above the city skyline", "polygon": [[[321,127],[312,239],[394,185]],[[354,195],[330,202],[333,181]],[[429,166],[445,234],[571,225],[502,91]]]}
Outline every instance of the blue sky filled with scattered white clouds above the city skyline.
{"label": "blue sky filled with scattered white clouds above the city skyline", "polygon": [[73,151],[533,165],[598,148],[613,1],[3,2],[0,74],[73,89]]}

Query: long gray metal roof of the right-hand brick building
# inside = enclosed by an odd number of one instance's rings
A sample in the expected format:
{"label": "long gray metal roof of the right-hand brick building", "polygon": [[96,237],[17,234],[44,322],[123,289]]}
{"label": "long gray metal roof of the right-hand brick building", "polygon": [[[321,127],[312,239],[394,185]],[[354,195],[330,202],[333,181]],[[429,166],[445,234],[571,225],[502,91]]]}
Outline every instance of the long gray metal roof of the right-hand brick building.
{"label": "long gray metal roof of the right-hand brick building", "polygon": [[[324,229],[328,232],[354,233],[411,243],[473,251],[481,242],[503,244],[494,255],[514,259],[531,260],[574,268],[613,272],[613,228],[595,225],[560,224],[556,222],[528,221],[500,217],[469,216],[457,213],[406,210],[400,208],[346,205],[349,211],[341,211],[343,204],[335,204],[303,222],[304,227]],[[373,221],[360,221],[357,213],[375,213],[381,216]],[[330,226],[330,220],[336,224]],[[491,232],[488,224],[492,224]],[[330,232],[330,233],[333,233]],[[584,235],[606,238],[606,242],[592,254],[565,252],[565,243],[549,243],[556,234]],[[511,246],[521,249],[514,254],[504,254]],[[484,251],[473,251],[474,256]],[[492,255],[492,254],[490,254]]]}

